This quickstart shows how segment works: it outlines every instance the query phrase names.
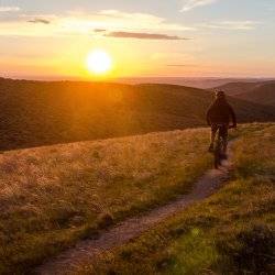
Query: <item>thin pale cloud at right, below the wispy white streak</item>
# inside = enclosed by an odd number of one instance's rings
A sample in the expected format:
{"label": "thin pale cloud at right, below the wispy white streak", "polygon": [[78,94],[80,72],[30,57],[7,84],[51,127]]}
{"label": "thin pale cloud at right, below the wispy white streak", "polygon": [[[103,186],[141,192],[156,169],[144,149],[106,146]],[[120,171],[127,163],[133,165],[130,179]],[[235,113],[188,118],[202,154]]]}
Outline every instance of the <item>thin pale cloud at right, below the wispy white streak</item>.
{"label": "thin pale cloud at right, below the wispy white streak", "polygon": [[201,24],[201,26],[208,29],[248,31],[248,30],[254,30],[257,24],[260,24],[260,22],[246,20],[246,21],[210,22]]}

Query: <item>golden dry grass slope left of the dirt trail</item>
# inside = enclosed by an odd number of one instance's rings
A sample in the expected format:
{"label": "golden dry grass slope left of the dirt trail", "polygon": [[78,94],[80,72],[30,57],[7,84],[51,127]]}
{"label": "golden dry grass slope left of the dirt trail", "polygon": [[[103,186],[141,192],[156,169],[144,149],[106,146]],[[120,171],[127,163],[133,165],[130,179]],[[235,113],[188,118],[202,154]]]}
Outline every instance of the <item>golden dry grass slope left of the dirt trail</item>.
{"label": "golden dry grass slope left of the dirt trail", "polygon": [[188,191],[211,165],[208,140],[197,129],[3,153],[0,274],[28,273],[99,228]]}

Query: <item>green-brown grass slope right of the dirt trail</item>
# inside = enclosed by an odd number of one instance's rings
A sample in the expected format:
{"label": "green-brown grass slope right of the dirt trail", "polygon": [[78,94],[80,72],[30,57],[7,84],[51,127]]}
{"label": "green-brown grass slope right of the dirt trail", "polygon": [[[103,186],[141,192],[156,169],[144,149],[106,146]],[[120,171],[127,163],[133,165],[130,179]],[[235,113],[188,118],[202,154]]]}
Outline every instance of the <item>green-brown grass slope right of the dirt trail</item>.
{"label": "green-brown grass slope right of the dirt trail", "polygon": [[224,188],[79,274],[273,274],[275,124],[239,134]]}

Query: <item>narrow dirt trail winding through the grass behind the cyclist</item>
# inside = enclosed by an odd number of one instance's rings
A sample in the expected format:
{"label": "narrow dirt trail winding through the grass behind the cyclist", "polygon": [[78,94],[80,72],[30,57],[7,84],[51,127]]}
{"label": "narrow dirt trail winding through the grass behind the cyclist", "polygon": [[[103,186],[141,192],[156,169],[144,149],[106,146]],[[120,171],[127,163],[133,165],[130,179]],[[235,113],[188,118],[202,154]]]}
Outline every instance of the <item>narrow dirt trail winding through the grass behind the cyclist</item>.
{"label": "narrow dirt trail winding through the grass behind the cyclist", "polygon": [[229,178],[231,154],[219,170],[208,170],[195,185],[193,191],[178,200],[156,208],[142,217],[128,219],[110,230],[101,232],[97,240],[80,241],[75,248],[38,266],[34,273],[41,275],[74,274],[81,263],[92,262],[101,252],[125,244],[144,231],[155,227],[169,216],[182,211],[187,206],[202,200],[216,193]]}

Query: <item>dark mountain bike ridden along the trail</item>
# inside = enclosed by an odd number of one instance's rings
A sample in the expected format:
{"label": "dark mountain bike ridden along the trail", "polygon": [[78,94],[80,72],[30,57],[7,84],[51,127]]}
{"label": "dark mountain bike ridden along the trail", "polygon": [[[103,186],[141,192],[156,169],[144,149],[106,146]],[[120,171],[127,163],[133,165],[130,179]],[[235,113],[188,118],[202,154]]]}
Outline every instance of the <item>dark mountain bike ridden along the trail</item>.
{"label": "dark mountain bike ridden along the trail", "polygon": [[224,134],[228,129],[232,129],[233,127],[228,127],[228,124],[221,123],[217,124],[217,132],[218,132],[218,138],[216,139],[215,142],[215,148],[213,148],[213,166],[216,169],[219,168],[219,166],[222,165],[222,161],[224,160],[224,153],[223,153],[223,144],[222,140],[224,139]]}

